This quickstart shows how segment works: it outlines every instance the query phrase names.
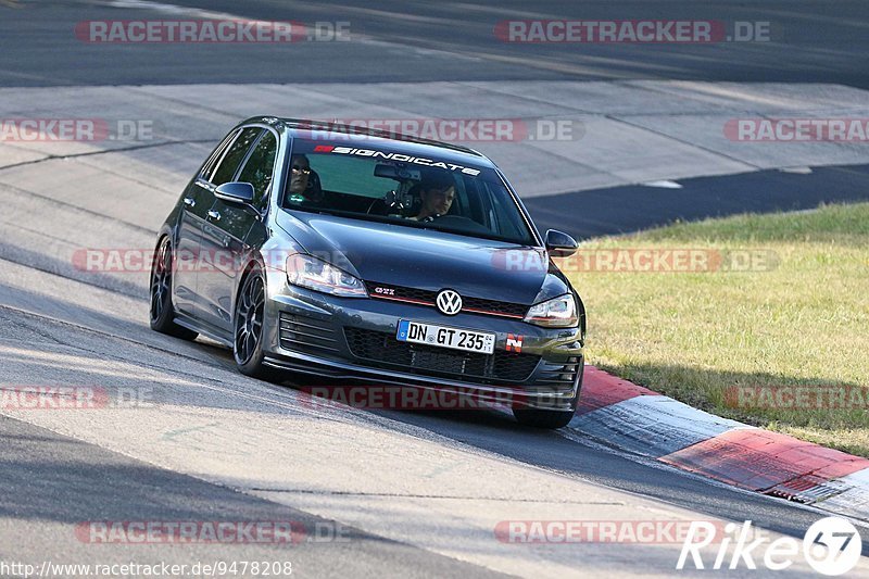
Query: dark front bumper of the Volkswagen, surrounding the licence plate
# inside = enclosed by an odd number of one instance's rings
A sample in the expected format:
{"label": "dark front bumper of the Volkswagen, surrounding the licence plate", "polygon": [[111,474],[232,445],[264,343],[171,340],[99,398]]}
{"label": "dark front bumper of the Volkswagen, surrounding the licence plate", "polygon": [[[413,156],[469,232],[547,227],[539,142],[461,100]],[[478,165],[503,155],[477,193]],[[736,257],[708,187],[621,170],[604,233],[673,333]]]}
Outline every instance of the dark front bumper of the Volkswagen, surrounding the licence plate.
{"label": "dark front bumper of the Volkswagen, surrounding the licence plate", "polygon": [[[270,277],[270,276],[269,276]],[[471,392],[483,401],[572,411],[582,385],[579,328],[541,328],[498,316],[445,316],[425,305],[338,298],[268,280],[265,363],[272,367],[368,385]],[[495,333],[487,355],[395,339],[401,319]],[[521,342],[507,348],[507,338]]]}

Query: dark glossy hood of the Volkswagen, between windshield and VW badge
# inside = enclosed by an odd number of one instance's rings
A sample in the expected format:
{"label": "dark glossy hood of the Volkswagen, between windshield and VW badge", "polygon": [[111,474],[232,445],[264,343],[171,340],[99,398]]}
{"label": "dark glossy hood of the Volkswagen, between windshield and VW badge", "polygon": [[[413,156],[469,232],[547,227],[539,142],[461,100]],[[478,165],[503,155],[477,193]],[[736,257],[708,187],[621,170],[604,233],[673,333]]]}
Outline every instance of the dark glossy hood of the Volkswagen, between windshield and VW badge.
{"label": "dark glossy hood of the Volkswagen, between windshield and VW badge", "polygon": [[366,281],[522,304],[569,291],[541,248],[318,213],[281,211],[277,223],[307,253]]}

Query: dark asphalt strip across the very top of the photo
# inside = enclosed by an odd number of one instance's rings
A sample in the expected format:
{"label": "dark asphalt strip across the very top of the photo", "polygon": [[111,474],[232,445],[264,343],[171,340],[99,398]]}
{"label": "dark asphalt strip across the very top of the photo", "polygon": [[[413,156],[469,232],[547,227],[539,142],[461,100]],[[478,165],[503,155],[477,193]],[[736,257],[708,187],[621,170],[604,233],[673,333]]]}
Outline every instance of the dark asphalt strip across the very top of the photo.
{"label": "dark asphalt strip across the very top of the photo", "polygon": [[[172,12],[149,9],[148,2],[113,8],[112,2],[87,0],[5,0],[0,2],[0,86],[680,79],[869,87],[869,4],[861,0],[167,3],[306,25],[345,22],[351,38],[375,42],[167,43],[141,51],[136,45],[79,41],[75,26],[90,20],[169,18]],[[768,22],[770,40],[531,45],[495,37],[499,22],[521,18]],[[403,47],[430,49],[431,54],[410,55]]]}

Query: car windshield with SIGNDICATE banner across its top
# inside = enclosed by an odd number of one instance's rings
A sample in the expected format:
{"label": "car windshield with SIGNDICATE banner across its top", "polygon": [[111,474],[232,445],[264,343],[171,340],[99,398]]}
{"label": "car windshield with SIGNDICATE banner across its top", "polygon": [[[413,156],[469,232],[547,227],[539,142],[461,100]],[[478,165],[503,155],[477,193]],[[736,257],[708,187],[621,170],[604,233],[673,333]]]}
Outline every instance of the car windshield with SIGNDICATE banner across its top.
{"label": "car windshield with SIGNDICATE banner across its top", "polygon": [[367,144],[295,139],[284,209],[534,246],[495,171]]}

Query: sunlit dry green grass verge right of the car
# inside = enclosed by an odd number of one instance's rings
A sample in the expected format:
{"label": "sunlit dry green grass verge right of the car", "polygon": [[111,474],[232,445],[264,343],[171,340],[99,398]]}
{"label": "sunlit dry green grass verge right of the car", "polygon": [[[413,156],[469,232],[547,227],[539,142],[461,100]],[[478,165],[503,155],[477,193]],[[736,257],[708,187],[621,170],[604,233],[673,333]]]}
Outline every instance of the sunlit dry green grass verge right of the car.
{"label": "sunlit dry green grass verge right of the car", "polygon": [[848,386],[869,398],[869,203],[740,215],[591,249],[760,250],[751,272],[568,273],[588,362],[720,416],[869,456],[866,407],[734,407],[734,386]]}

